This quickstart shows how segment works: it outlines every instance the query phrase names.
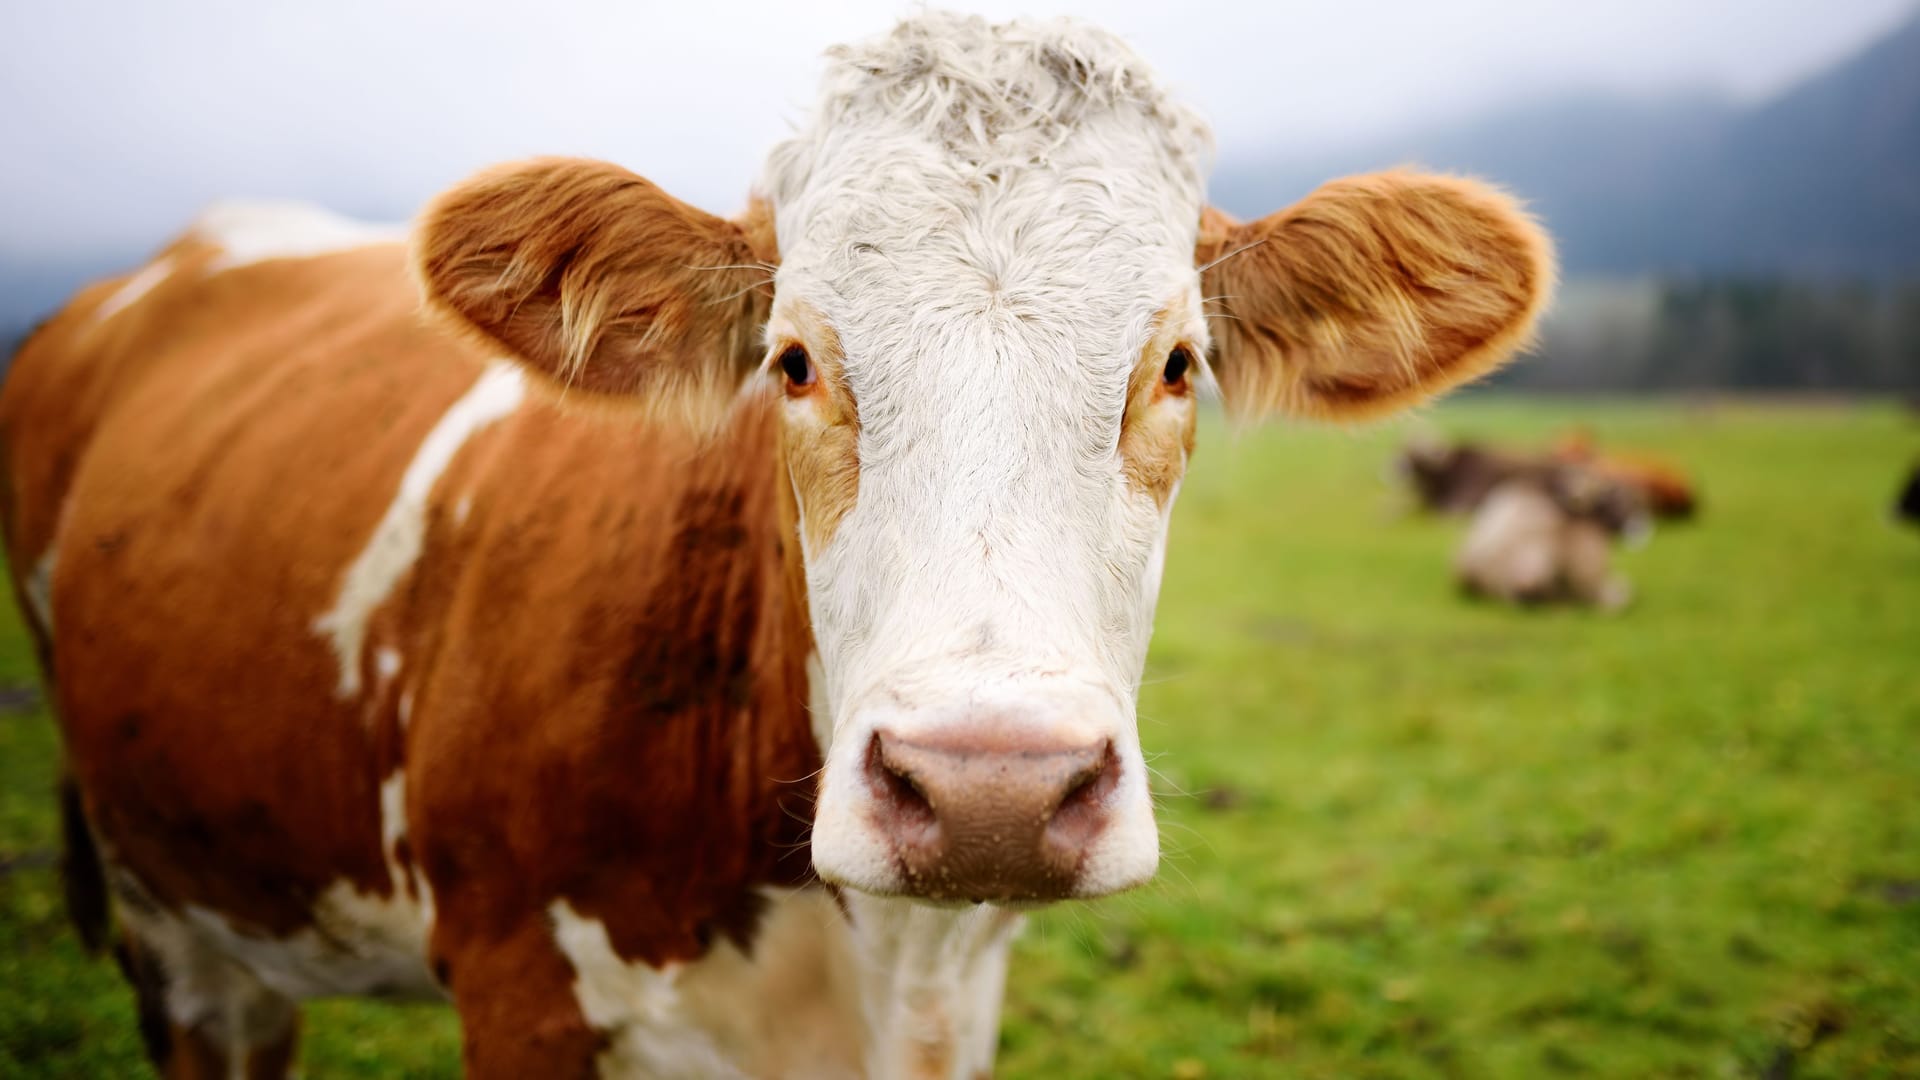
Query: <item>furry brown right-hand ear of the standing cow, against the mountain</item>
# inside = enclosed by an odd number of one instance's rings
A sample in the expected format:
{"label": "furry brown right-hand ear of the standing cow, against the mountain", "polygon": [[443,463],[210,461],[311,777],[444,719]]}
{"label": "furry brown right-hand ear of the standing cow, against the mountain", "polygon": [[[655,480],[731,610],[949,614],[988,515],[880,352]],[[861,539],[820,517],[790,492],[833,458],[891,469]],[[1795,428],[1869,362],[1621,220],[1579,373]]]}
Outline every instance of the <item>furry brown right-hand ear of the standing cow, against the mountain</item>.
{"label": "furry brown right-hand ear of the standing cow, against the mountain", "polygon": [[1236,223],[1194,252],[1215,302],[1212,367],[1242,417],[1365,419],[1500,367],[1553,292],[1553,246],[1505,194],[1375,173]]}

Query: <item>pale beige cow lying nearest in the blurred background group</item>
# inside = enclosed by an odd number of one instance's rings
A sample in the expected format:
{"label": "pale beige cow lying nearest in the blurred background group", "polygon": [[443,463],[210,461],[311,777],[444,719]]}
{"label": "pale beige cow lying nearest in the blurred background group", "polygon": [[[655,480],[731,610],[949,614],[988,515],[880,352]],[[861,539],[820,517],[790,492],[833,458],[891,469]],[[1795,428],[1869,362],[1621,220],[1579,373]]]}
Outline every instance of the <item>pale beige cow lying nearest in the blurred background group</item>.
{"label": "pale beige cow lying nearest in the blurred background group", "polygon": [[1471,596],[1619,611],[1632,588],[1613,573],[1613,544],[1645,530],[1645,502],[1634,486],[1563,465],[1496,484],[1473,515],[1453,573]]}

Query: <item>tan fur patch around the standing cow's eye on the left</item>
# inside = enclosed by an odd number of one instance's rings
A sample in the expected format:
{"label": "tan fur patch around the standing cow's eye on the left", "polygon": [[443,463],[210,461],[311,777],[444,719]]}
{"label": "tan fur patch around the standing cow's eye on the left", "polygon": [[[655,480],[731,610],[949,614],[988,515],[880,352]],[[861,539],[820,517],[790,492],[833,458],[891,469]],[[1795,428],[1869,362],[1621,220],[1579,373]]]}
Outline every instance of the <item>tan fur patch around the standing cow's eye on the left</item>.
{"label": "tan fur patch around the standing cow's eye on the left", "polygon": [[812,359],[816,380],[785,409],[781,446],[799,492],[806,542],[820,550],[833,540],[860,494],[860,409],[847,386],[845,354],[833,325],[806,302],[785,306],[772,327],[768,380],[783,380],[780,354],[799,344]]}

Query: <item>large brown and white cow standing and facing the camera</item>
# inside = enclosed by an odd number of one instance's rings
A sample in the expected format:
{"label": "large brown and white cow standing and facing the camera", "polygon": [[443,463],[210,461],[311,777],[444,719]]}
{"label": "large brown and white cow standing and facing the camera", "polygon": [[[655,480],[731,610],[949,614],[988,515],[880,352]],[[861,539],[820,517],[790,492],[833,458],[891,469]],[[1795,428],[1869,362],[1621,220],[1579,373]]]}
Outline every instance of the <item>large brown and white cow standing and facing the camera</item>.
{"label": "large brown and white cow standing and facing the camera", "polygon": [[1208,152],[1106,33],[922,15],[737,221],[536,160],[411,254],[240,208],[81,292],[6,540],[161,1068],[372,994],[474,1076],[991,1070],[1018,911],[1156,867],[1196,392],[1380,415],[1549,292],[1486,186],[1240,225]]}

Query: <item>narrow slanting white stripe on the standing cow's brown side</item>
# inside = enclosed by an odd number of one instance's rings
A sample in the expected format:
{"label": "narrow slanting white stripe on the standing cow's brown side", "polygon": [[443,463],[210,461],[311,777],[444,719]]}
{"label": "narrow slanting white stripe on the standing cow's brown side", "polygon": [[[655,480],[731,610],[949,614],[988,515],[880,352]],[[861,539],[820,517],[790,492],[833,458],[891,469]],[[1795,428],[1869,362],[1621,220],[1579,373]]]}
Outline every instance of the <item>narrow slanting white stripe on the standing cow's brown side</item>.
{"label": "narrow slanting white stripe on the standing cow's brown side", "polygon": [[518,365],[507,359],[495,361],[459,402],[453,402],[434,430],[426,432],[426,440],[420,442],[420,450],[399,479],[399,492],[374,527],[372,538],[348,567],[332,609],[313,623],[313,630],[332,642],[334,655],[340,659],[340,698],[353,698],[361,692],[367,621],[386,603],[394,586],[420,557],[420,548],[426,542],[426,505],[434,494],[434,482],[447,471],[453,455],[468,438],[511,415],[524,398],[526,377],[520,375]]}

